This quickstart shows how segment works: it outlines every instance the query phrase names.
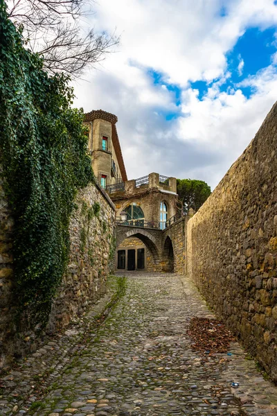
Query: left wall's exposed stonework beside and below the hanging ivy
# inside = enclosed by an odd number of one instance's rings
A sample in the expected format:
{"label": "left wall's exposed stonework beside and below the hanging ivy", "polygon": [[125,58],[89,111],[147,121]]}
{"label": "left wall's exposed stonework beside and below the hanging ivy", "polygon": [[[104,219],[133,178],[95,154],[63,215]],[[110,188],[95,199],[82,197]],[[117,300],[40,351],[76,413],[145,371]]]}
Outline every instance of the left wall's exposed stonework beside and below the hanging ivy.
{"label": "left wall's exposed stonework beside and below the hanging ivy", "polygon": [[95,185],[82,189],[70,223],[69,266],[53,302],[48,327],[18,333],[14,324],[17,302],[12,288],[12,216],[0,187],[0,368],[14,357],[33,352],[49,334],[64,328],[70,320],[105,292],[114,265],[115,209],[109,196]]}

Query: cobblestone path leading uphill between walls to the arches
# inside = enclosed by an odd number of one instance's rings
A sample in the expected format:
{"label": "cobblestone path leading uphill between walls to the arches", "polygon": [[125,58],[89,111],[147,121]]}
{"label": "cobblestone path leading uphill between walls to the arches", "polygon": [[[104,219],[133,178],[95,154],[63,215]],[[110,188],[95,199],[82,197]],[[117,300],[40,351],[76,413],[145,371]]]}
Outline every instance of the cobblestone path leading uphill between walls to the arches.
{"label": "cobblestone path leading uphill between walls to the arches", "polygon": [[[79,324],[3,377],[1,415],[277,415],[277,388],[238,343],[231,356],[193,352],[193,316],[214,318],[186,277],[129,273],[127,293],[100,326],[84,325],[80,340]],[[33,383],[49,365],[39,397]]]}

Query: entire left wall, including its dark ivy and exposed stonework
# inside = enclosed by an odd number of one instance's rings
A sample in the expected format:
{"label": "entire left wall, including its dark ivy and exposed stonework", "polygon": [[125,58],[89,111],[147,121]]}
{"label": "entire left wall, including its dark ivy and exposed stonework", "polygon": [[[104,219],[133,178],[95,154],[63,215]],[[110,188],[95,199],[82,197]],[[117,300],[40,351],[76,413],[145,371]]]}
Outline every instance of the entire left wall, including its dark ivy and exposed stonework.
{"label": "entire left wall, including its dark ivy and exposed stonework", "polygon": [[0,1],[1,367],[96,299],[114,247],[69,77],[25,46]]}

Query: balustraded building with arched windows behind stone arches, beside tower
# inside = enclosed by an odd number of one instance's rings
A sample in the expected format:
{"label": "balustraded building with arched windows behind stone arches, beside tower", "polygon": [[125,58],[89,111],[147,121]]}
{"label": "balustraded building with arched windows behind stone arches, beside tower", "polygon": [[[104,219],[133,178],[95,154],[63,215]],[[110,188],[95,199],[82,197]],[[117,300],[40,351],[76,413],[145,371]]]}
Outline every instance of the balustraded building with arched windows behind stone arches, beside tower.
{"label": "balustraded building with arched windows behind stone arches, beside tower", "polygon": [[[177,213],[177,183],[175,177],[150,173],[122,186],[107,187],[116,206],[116,220],[121,227],[151,229],[156,236],[175,222]],[[158,231],[158,233],[157,233]],[[162,234],[161,234],[162,237]],[[156,238],[156,237],[155,237]],[[158,237],[159,239],[159,237]],[[173,248],[167,241],[167,257],[173,262]],[[153,244],[141,232],[124,239],[116,250],[116,268],[126,270],[157,270],[161,257]]]}

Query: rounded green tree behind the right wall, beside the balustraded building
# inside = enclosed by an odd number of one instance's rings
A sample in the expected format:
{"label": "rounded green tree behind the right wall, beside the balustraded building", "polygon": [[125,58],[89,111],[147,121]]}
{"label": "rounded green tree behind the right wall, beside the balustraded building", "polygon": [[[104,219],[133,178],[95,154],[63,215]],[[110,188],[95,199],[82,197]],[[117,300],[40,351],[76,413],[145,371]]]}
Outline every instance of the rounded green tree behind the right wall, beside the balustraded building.
{"label": "rounded green tree behind the right wall, beside the balustraded building", "polygon": [[197,211],[211,195],[211,187],[204,180],[177,179],[177,193],[182,202],[184,214],[190,208]]}

